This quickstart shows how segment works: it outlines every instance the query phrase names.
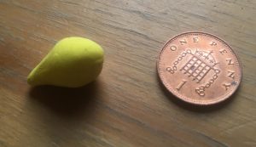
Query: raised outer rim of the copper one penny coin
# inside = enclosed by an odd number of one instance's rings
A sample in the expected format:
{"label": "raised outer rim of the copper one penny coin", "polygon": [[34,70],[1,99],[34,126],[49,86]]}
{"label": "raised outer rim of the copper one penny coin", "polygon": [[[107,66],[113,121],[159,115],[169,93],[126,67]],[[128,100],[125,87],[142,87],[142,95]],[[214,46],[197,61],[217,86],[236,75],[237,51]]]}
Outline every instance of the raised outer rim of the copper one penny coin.
{"label": "raised outer rim of the copper one penny coin", "polygon": [[[178,37],[183,37],[183,36],[188,36],[188,35],[203,35],[203,36],[207,36],[207,37],[212,37],[213,39],[216,39],[218,40],[219,42],[222,42],[224,44],[224,46],[226,46],[227,48],[230,49],[230,53],[231,54],[234,54],[236,59],[237,59],[237,65],[238,65],[238,73],[239,73],[239,79],[238,79],[238,84],[236,87],[233,88],[233,90],[230,92],[230,93],[224,93],[223,96],[220,96],[219,99],[211,99],[211,100],[196,100],[196,99],[191,99],[191,98],[187,98],[186,96],[183,96],[182,94],[180,93],[177,93],[175,92],[174,90],[172,90],[172,87],[168,85],[167,82],[165,82],[163,80],[164,76],[162,76],[162,72],[160,71],[160,57],[162,55],[162,53],[164,52],[165,48],[167,47],[167,45],[169,44],[169,42],[172,42],[174,40],[176,40]],[[207,32],[202,32],[202,31],[188,31],[188,32],[183,32],[179,35],[176,35],[174,37],[172,37],[171,39],[169,39],[165,45],[163,46],[163,48],[160,50],[160,54],[158,56],[158,59],[157,59],[157,71],[158,71],[158,75],[160,77],[160,81],[162,82],[162,84],[166,87],[166,89],[172,93],[172,95],[176,96],[178,99],[181,99],[185,102],[188,102],[189,104],[193,104],[193,105],[214,105],[214,104],[217,104],[217,103],[220,103],[222,101],[224,101],[225,99],[229,99],[230,96],[236,92],[237,88],[239,88],[240,84],[241,84],[241,77],[242,77],[242,67],[241,67],[241,61],[240,59],[238,58],[238,56],[236,55],[235,51],[233,50],[233,48],[230,47],[230,45],[225,42],[222,38],[219,38],[215,35],[212,35],[210,33],[207,33]]]}

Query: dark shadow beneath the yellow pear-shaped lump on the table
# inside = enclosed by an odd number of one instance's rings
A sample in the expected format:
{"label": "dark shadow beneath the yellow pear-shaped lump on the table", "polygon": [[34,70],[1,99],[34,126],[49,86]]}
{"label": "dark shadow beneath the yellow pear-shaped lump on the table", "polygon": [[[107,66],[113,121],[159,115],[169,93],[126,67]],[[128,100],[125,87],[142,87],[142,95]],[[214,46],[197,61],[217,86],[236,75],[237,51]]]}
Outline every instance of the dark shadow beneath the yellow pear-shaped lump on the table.
{"label": "dark shadow beneath the yellow pear-shaped lump on the table", "polygon": [[81,88],[38,86],[32,88],[29,95],[58,116],[72,118],[91,115],[95,110],[97,89],[97,82]]}

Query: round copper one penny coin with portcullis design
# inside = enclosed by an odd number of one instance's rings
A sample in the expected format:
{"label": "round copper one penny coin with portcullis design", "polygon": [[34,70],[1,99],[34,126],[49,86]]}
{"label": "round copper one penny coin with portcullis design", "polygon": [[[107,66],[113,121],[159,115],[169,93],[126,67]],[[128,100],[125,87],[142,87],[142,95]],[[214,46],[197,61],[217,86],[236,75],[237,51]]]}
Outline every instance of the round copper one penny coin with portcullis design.
{"label": "round copper one penny coin with portcullis design", "polygon": [[241,63],[232,48],[204,32],[183,33],[166,42],[157,68],[172,94],[195,105],[228,99],[241,82]]}

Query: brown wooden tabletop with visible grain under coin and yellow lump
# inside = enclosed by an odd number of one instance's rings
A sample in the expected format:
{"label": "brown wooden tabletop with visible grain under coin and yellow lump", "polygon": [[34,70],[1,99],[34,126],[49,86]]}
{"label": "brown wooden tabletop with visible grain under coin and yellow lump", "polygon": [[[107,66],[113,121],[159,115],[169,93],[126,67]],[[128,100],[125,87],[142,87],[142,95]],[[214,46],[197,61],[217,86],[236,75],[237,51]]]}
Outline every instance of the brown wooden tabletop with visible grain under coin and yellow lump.
{"label": "brown wooden tabletop with visible grain under coin and yellow lump", "polygon": [[[1,147],[256,146],[254,0],[0,0]],[[163,44],[184,31],[224,38],[241,87],[220,105],[177,100],[159,82]],[[26,76],[63,37],[102,45],[84,88],[31,88]]]}

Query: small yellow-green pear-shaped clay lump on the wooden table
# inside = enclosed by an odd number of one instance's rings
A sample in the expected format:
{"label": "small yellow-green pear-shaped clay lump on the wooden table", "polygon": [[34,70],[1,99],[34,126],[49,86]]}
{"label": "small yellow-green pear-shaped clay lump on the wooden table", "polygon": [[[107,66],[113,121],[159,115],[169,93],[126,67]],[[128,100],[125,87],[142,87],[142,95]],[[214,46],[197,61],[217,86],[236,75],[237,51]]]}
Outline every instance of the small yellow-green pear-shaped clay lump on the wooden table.
{"label": "small yellow-green pear-shaped clay lump on the wooden table", "polygon": [[83,37],[67,37],[57,42],[27,76],[32,86],[54,85],[78,88],[93,82],[102,71],[103,50]]}

